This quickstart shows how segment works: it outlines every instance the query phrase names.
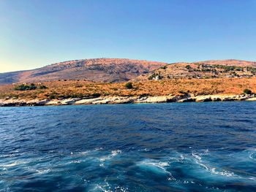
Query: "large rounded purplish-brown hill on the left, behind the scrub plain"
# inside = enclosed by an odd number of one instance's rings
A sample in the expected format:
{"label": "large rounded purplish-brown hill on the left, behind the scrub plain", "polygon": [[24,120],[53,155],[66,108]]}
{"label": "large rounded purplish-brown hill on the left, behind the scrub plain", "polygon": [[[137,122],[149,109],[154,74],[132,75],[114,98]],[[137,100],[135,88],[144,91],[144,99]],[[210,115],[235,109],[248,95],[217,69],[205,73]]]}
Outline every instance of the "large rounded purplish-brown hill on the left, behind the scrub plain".
{"label": "large rounded purplish-brown hill on the left, behind the scrub plain", "polygon": [[65,61],[39,69],[0,74],[0,85],[13,82],[45,82],[52,80],[90,80],[96,82],[124,82],[140,74],[165,66],[154,61],[122,58],[95,58]]}

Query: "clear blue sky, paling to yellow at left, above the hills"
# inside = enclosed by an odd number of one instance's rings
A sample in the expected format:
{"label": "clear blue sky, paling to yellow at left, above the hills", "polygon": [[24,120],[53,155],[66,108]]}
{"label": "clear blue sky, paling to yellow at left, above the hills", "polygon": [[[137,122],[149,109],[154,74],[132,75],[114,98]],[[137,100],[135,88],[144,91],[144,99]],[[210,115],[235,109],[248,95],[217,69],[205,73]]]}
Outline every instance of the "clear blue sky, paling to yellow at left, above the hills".
{"label": "clear blue sky, paling to yellow at left, above the hills", "polygon": [[256,61],[256,1],[0,0],[0,72],[82,58]]}

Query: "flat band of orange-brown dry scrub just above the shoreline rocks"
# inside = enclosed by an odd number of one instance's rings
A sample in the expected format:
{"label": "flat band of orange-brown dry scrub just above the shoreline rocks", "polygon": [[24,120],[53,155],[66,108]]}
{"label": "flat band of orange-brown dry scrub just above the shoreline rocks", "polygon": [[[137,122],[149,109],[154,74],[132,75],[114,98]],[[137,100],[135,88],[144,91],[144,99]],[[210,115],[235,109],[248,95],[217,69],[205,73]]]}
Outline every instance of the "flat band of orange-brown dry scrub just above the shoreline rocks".
{"label": "flat band of orange-brown dry scrub just above the shoreline rocks", "polygon": [[241,94],[245,88],[256,93],[256,77],[222,79],[172,79],[143,80],[132,82],[133,88],[127,89],[126,82],[103,83],[83,80],[44,82],[47,89],[15,91],[15,85],[1,85],[0,99],[64,99],[87,96],[165,96],[192,93]]}

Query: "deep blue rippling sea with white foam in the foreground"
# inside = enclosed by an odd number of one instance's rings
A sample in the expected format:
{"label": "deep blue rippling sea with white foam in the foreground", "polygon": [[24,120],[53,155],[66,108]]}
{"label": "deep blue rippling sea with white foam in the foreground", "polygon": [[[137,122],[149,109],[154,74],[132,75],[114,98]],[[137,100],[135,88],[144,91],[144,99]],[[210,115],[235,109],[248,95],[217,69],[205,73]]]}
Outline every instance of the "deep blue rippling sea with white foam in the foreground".
{"label": "deep blue rippling sea with white foam in the foreground", "polygon": [[1,107],[0,191],[256,191],[256,102]]}

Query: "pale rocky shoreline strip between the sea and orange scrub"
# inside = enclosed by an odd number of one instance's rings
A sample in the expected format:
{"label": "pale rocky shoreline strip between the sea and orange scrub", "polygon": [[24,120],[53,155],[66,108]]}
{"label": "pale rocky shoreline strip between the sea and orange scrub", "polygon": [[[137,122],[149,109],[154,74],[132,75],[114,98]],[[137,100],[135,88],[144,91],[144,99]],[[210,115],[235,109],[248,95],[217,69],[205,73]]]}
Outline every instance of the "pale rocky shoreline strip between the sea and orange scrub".
{"label": "pale rocky shoreline strip between the sea and orange scrub", "polygon": [[169,102],[208,102],[208,101],[256,101],[256,95],[205,95],[205,96],[106,96],[70,99],[0,99],[0,107],[80,105],[80,104],[142,104]]}

